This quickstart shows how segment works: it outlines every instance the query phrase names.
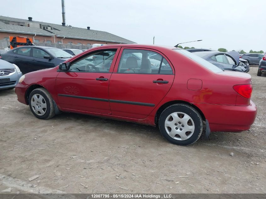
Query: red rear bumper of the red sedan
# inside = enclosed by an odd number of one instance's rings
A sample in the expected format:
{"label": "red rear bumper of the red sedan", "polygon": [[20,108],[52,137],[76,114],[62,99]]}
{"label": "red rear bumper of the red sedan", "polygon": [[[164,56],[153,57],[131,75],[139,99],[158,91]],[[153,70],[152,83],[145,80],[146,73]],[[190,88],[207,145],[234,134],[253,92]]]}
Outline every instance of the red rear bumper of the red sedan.
{"label": "red rear bumper of the red sedan", "polygon": [[194,105],[203,112],[209,121],[211,131],[241,132],[248,130],[257,115],[257,107],[252,101],[249,106]]}

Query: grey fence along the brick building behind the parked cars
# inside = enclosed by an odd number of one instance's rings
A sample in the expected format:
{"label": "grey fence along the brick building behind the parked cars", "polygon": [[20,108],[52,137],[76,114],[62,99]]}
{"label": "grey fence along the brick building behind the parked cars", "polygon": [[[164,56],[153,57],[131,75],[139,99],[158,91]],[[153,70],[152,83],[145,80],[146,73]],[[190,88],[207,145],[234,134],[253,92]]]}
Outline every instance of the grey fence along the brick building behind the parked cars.
{"label": "grey fence along the brick building behind the parked cars", "polygon": [[[88,50],[92,48],[92,45],[75,45],[75,44],[62,44],[62,43],[35,43],[35,46],[46,46],[46,47],[54,47],[59,49],[69,48],[69,49],[79,49],[79,50]],[[0,40],[0,50],[3,50],[4,48],[7,48],[10,46],[9,41],[1,41]]]}

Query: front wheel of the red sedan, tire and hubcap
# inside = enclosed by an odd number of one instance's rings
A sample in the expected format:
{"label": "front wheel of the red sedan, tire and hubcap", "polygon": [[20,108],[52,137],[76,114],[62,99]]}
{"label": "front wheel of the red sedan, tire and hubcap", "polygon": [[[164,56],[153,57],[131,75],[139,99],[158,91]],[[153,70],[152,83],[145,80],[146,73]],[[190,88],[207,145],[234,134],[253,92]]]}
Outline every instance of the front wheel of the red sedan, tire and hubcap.
{"label": "front wheel of the red sedan, tire and hubcap", "polygon": [[39,119],[54,117],[54,103],[52,96],[45,88],[34,89],[29,97],[31,112]]}

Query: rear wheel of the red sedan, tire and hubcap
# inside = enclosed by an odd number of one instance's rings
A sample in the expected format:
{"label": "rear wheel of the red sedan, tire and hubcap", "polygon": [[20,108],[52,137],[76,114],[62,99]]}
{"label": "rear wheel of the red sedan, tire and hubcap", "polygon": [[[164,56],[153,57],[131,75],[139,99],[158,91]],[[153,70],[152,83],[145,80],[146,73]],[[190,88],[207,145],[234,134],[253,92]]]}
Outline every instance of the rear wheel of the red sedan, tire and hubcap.
{"label": "rear wheel of the red sedan, tire and hubcap", "polygon": [[161,113],[159,129],[167,141],[187,146],[200,138],[203,121],[195,108],[187,104],[173,104]]}

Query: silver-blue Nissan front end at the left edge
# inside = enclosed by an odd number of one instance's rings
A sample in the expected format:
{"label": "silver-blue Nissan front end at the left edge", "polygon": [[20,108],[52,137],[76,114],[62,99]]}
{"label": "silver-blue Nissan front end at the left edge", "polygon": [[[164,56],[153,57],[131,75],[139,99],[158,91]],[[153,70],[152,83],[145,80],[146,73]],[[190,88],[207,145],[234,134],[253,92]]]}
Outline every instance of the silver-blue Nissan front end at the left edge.
{"label": "silver-blue Nissan front end at the left edge", "polygon": [[15,88],[21,76],[19,67],[0,59],[0,90]]}

